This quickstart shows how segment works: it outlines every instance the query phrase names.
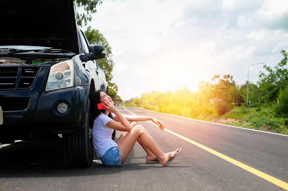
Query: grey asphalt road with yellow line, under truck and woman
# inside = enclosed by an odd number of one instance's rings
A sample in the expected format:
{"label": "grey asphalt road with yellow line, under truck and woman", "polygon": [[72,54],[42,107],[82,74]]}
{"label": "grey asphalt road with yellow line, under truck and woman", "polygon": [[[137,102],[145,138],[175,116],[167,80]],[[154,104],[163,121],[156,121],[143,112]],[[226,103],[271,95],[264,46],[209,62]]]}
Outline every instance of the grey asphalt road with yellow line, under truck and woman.
{"label": "grey asphalt road with yellow line, under truck and woman", "polygon": [[169,167],[146,164],[138,143],[124,167],[69,168],[62,144],[20,141],[0,145],[0,191],[288,189],[288,136],[126,109],[154,116],[172,132],[140,122],[163,152],[182,148]]}

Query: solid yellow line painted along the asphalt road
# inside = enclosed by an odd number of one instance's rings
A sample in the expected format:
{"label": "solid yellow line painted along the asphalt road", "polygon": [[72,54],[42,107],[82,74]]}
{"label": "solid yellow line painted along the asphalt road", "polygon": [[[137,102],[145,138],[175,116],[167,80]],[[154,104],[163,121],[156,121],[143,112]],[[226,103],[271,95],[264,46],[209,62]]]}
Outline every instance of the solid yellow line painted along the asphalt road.
{"label": "solid yellow line painted along the asphalt road", "polygon": [[[132,113],[131,111],[127,110],[125,107],[123,107],[123,108],[124,108],[126,111]],[[134,114],[134,113],[132,113],[132,114],[133,114],[133,115],[136,115],[136,114]],[[153,125],[155,125],[155,126],[158,127],[158,125],[156,125],[155,123],[152,123],[152,122],[150,122],[150,121],[147,121],[147,122],[149,122],[149,123],[151,123],[151,124],[153,124]],[[263,178],[263,179],[265,179],[265,180],[267,180],[267,181],[269,181],[269,182],[271,182],[271,183],[273,183],[273,184],[276,184],[277,186],[280,186],[280,187],[283,188],[283,189],[288,190],[288,183],[283,182],[282,180],[279,180],[279,179],[277,179],[277,178],[274,178],[274,177],[272,177],[272,176],[270,176],[270,175],[268,175],[268,174],[265,174],[265,173],[263,173],[263,172],[261,172],[261,171],[259,171],[259,170],[256,170],[255,168],[249,167],[249,166],[247,166],[246,164],[243,164],[243,163],[241,163],[241,162],[239,162],[239,161],[236,161],[236,160],[234,160],[233,158],[227,157],[227,156],[224,155],[224,154],[221,154],[221,153],[219,153],[219,152],[217,152],[217,151],[214,151],[214,150],[212,150],[211,148],[208,148],[208,147],[206,147],[206,146],[204,146],[204,145],[201,145],[201,144],[199,144],[199,143],[197,143],[197,142],[195,142],[195,141],[192,141],[192,140],[189,139],[189,138],[186,138],[186,137],[184,137],[184,136],[182,136],[182,135],[179,135],[179,134],[177,134],[177,133],[175,133],[175,132],[172,132],[172,131],[170,131],[170,130],[168,130],[168,129],[166,129],[166,128],[165,128],[164,130],[167,131],[167,132],[169,132],[169,133],[171,133],[171,134],[173,134],[173,135],[176,135],[176,136],[179,137],[179,138],[184,139],[185,141],[188,141],[189,143],[192,143],[193,145],[196,145],[196,146],[204,149],[205,151],[208,151],[208,152],[210,152],[210,153],[212,153],[212,154],[215,154],[216,156],[218,156],[218,157],[220,157],[220,158],[223,158],[224,160],[226,160],[226,161],[228,161],[228,162],[230,162],[230,163],[232,163],[232,164],[235,164],[236,166],[238,166],[238,167],[240,167],[240,168],[243,168],[244,170],[247,170],[247,171],[255,174],[255,175],[258,176],[258,177],[261,177],[261,178]]]}

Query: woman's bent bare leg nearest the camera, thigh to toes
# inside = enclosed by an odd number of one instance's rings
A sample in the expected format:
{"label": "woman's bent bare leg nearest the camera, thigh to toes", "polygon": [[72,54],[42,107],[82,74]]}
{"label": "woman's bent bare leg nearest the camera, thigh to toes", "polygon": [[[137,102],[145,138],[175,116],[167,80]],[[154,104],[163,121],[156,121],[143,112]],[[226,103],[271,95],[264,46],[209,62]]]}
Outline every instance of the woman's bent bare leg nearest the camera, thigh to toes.
{"label": "woman's bent bare leg nearest the camera, thigh to toes", "polygon": [[[121,164],[124,164],[127,160],[129,154],[131,153],[137,139],[140,138],[142,144],[148,148],[161,162],[162,165],[169,161],[167,153],[163,153],[146,129],[141,125],[136,125],[131,131],[129,131],[123,138],[119,138],[117,144],[119,145],[119,151],[122,153]],[[179,151],[178,149],[176,151]],[[172,152],[172,158],[175,157],[174,152]]]}

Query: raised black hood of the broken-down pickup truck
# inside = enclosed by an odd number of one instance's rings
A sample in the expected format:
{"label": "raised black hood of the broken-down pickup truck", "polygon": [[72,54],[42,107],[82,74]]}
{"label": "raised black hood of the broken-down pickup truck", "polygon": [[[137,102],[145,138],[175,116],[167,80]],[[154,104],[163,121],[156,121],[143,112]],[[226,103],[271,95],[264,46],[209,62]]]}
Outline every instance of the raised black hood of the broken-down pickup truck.
{"label": "raised black hood of the broken-down pickup truck", "polygon": [[44,46],[79,53],[72,0],[0,0],[0,46]]}

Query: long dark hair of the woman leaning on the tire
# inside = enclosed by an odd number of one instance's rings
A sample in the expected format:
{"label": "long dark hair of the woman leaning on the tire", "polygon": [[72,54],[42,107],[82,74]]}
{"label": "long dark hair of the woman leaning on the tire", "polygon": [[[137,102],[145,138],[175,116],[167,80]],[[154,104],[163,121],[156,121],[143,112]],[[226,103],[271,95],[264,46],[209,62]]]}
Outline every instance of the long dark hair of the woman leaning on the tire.
{"label": "long dark hair of the woman leaning on the tire", "polygon": [[[91,100],[91,107],[90,107],[90,121],[89,121],[89,125],[90,127],[93,128],[93,124],[94,124],[94,120],[96,119],[96,117],[98,117],[101,113],[106,113],[107,111],[102,109],[99,110],[97,104],[101,103],[100,100],[100,92],[104,92],[102,90],[98,90],[93,92],[92,94],[90,94],[89,98]],[[105,93],[105,92],[104,92]],[[110,117],[111,119],[113,119],[111,112],[109,112],[108,117]],[[112,133],[112,140],[115,139],[115,135],[116,135],[116,131],[114,129],[113,133]]]}

